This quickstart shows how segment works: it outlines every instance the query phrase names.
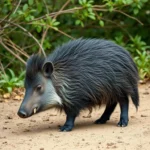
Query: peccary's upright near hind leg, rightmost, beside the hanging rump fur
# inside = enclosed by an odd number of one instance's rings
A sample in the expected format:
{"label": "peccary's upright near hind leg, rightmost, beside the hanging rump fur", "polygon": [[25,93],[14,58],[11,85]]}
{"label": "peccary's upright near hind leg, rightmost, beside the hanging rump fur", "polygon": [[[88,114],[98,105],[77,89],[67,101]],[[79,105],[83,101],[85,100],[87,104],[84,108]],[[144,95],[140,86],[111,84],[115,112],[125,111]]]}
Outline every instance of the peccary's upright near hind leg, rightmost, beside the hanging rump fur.
{"label": "peccary's upright near hind leg, rightmost, beside the hanging rump fur", "polygon": [[129,109],[129,99],[125,96],[120,102],[120,121],[118,122],[119,127],[126,127],[128,125],[128,109]]}

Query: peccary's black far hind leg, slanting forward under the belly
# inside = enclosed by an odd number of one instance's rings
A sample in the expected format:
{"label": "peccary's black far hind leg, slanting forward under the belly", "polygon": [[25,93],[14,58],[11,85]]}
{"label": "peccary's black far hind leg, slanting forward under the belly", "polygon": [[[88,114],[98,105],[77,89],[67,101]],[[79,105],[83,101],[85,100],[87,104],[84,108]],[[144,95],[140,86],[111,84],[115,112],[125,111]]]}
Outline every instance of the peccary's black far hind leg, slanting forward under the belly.
{"label": "peccary's black far hind leg, slanting forward under the belly", "polygon": [[95,121],[95,124],[104,124],[107,122],[107,120],[110,119],[110,116],[112,112],[114,111],[115,107],[117,105],[117,102],[114,102],[113,104],[107,104],[106,109],[103,113],[103,115]]}

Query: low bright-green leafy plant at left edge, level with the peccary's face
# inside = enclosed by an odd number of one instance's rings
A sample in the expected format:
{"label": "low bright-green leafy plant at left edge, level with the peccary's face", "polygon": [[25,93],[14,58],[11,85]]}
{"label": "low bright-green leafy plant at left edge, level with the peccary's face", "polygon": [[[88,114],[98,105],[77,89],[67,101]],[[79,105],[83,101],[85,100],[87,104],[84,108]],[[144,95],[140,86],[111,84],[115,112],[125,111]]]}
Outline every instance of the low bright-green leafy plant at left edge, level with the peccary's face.
{"label": "low bright-green leafy plant at left edge, level with the peccary's face", "polygon": [[19,76],[16,76],[13,70],[8,69],[7,74],[0,72],[0,91],[12,92],[15,87],[23,87],[25,72],[22,72]]}

